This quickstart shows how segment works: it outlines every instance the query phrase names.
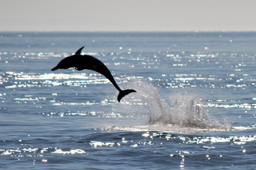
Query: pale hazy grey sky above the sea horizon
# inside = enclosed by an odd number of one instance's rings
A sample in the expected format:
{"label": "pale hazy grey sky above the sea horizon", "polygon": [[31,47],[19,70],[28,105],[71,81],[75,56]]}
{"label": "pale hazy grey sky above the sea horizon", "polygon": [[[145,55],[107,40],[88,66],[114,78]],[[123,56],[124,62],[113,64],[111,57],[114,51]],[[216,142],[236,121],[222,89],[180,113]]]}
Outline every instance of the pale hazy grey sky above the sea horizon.
{"label": "pale hazy grey sky above the sea horizon", "polygon": [[0,31],[256,31],[255,0],[0,0]]}

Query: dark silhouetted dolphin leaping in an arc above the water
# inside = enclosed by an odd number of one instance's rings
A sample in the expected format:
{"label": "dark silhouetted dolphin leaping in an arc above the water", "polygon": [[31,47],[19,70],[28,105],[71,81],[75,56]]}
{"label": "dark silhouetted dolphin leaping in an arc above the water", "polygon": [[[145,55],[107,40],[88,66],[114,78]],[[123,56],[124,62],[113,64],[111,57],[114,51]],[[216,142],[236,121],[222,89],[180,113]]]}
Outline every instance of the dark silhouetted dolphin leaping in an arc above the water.
{"label": "dark silhouetted dolphin leaping in an arc above the water", "polygon": [[81,51],[84,48],[82,46],[73,56],[66,57],[62,59],[56,67],[53,67],[52,71],[57,69],[69,69],[69,68],[75,68],[76,70],[93,70],[96,71],[102,75],[104,75],[107,79],[110,80],[110,82],[114,85],[115,88],[119,91],[119,95],[117,96],[117,100],[120,102],[120,100],[130,94],[131,92],[136,92],[132,89],[127,90],[121,90],[121,88],[118,87],[117,83],[115,82],[112,74],[110,73],[109,69],[102,63],[100,60],[98,60],[95,57],[89,56],[89,55],[81,55]]}

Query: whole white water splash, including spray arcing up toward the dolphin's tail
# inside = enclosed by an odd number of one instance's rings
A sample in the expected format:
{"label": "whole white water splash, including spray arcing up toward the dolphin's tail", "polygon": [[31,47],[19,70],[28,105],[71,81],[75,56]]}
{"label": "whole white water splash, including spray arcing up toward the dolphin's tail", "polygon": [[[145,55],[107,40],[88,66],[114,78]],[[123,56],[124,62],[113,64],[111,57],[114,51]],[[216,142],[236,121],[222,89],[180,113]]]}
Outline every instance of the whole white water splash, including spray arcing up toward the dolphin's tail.
{"label": "whole white water splash, including spray arcing up toward the dolphin's tail", "polygon": [[170,96],[170,99],[164,100],[159,95],[157,88],[150,83],[141,79],[134,79],[131,84],[137,90],[137,95],[141,97],[141,100],[145,100],[149,109],[147,128],[155,127],[163,130],[162,126],[168,129],[230,130],[231,126],[229,124],[222,124],[205,110],[203,102],[196,95],[179,92]]}

